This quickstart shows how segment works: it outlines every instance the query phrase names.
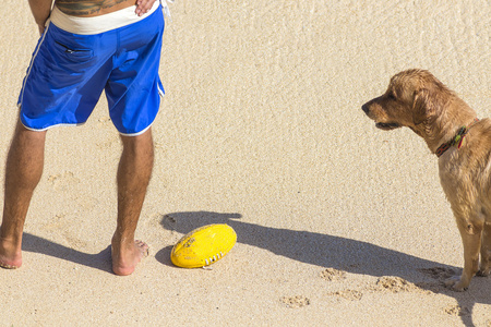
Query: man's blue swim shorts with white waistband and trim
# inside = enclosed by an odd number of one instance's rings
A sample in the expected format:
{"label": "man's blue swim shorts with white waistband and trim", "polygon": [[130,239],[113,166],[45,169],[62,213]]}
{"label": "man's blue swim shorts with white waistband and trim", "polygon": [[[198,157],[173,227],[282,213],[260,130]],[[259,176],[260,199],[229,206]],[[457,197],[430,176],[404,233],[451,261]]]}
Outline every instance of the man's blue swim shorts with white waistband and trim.
{"label": "man's blue swim shorts with white waistband and trim", "polygon": [[159,1],[141,17],[134,9],[75,17],[55,7],[19,96],[25,128],[83,124],[103,89],[121,134],[139,135],[152,125],[164,95],[164,16]]}

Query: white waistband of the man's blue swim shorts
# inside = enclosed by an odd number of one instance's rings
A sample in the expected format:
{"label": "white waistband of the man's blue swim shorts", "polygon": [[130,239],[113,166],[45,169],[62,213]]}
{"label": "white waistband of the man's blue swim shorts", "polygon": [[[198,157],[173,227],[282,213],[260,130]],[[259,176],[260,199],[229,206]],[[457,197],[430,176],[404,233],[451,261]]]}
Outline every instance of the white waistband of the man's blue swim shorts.
{"label": "white waistband of the man's blue swim shorts", "polygon": [[91,35],[108,32],[119,27],[123,27],[141,20],[146,19],[160,5],[159,1],[155,1],[152,9],[139,16],[134,11],[136,5],[128,7],[111,13],[107,13],[93,17],[71,16],[63,13],[56,5],[51,11],[50,21],[57,27],[73,34]]}

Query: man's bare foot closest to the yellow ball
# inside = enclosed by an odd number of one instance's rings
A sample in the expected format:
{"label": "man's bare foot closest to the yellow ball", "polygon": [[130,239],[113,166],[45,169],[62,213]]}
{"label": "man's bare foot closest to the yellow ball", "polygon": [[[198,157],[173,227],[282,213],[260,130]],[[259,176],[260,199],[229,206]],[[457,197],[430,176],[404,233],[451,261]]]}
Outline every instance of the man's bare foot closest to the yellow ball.
{"label": "man's bare foot closest to the yellow ball", "polygon": [[147,255],[148,245],[142,241],[134,241],[133,246],[130,245],[128,249],[112,244],[112,271],[119,276],[131,275],[136,265]]}

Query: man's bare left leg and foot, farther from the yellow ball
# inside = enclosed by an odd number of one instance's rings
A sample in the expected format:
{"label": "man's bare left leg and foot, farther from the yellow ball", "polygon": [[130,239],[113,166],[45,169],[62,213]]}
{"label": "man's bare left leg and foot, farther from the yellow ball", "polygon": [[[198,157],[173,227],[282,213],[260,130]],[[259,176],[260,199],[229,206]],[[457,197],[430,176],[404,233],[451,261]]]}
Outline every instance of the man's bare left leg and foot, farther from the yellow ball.
{"label": "man's bare left leg and foot, farther from the yellow ball", "polygon": [[7,157],[3,219],[0,228],[0,266],[22,265],[22,233],[31,198],[43,174],[45,132],[17,123]]}

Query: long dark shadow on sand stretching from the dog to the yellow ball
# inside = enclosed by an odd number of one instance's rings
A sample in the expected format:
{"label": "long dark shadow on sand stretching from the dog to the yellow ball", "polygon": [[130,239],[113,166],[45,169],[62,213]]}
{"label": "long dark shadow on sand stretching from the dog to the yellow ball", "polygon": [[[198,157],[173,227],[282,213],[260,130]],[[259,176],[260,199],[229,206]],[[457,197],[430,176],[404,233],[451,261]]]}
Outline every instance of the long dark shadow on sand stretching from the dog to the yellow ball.
{"label": "long dark shadow on sand stretching from the dog to the yellow ball", "polygon": [[[460,274],[462,268],[419,258],[368,242],[310,231],[277,229],[240,221],[240,214],[218,214],[208,211],[172,213],[161,217],[161,226],[167,230],[188,233],[209,223],[227,223],[237,232],[237,242],[267,250],[301,263],[323,268],[336,268],[351,274],[375,277],[400,277],[432,292],[443,293],[456,299],[469,312],[463,314],[466,326],[472,324],[472,307],[476,303],[491,304],[491,283],[489,279],[475,277],[467,292],[454,292],[441,284],[439,274]],[[156,259],[165,265],[170,263],[171,246],[160,250]],[[434,282],[424,283],[428,274],[434,274]],[[448,276],[446,276],[448,277]],[[436,286],[436,289],[435,289]],[[472,293],[472,288],[488,288],[489,291]]]}

